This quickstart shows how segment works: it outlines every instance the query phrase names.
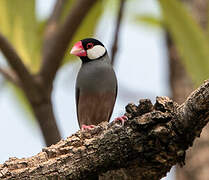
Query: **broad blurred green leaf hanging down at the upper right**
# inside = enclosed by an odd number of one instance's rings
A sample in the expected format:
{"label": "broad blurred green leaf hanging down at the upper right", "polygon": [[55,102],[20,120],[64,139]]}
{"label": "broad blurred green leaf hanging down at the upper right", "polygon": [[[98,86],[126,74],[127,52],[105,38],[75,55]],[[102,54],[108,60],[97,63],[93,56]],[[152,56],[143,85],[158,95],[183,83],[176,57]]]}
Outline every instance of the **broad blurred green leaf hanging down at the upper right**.
{"label": "broad blurred green leaf hanging down at the upper right", "polygon": [[178,0],[159,0],[167,30],[182,62],[199,85],[209,77],[209,42],[201,27]]}

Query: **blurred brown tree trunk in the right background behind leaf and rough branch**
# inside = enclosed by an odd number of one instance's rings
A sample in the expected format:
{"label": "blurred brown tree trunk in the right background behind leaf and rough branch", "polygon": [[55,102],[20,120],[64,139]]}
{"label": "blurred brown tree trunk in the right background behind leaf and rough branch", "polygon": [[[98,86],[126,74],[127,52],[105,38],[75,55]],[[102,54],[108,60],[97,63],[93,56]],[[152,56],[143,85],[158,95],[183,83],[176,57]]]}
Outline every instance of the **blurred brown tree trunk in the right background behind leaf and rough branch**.
{"label": "blurred brown tree trunk in the right background behind leaf and rough branch", "polygon": [[[206,29],[208,23],[207,0],[182,0],[193,14],[199,24]],[[193,90],[190,77],[179,60],[175,46],[167,35],[167,45],[170,56],[170,83],[172,96],[175,101],[182,103]],[[176,179],[178,180],[207,180],[209,178],[209,125],[197,139],[192,149],[187,153],[186,165],[177,167]]]}

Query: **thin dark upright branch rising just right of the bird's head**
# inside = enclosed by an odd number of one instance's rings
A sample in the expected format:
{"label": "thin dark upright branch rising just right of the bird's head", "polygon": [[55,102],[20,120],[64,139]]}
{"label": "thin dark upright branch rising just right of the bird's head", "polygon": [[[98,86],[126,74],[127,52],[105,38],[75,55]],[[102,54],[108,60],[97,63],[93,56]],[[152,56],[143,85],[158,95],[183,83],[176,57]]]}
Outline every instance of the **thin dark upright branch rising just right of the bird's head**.
{"label": "thin dark upright branch rising just right of the bird's head", "polygon": [[111,50],[111,64],[113,66],[114,66],[114,63],[115,63],[115,55],[116,55],[117,50],[118,50],[118,37],[119,37],[119,33],[120,33],[121,20],[123,18],[124,4],[125,4],[125,0],[120,0],[120,7],[119,7],[119,11],[118,11],[118,16],[117,16],[115,34],[113,36],[114,41],[113,41],[112,50]]}

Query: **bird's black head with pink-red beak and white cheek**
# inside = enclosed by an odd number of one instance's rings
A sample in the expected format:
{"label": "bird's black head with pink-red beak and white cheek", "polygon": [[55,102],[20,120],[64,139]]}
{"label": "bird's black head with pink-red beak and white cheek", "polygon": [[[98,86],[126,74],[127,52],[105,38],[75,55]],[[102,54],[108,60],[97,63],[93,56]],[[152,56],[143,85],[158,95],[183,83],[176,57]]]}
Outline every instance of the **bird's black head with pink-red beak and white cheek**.
{"label": "bird's black head with pink-red beak and white cheek", "polygon": [[86,38],[75,43],[70,53],[80,57],[82,62],[89,62],[103,57],[107,50],[100,41]]}

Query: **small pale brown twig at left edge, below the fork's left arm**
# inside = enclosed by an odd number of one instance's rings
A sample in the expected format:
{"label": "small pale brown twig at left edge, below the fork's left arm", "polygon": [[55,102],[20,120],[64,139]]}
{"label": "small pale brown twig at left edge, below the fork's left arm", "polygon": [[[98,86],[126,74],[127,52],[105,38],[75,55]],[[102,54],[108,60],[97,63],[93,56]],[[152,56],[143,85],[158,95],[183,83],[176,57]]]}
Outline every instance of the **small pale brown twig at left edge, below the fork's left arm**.
{"label": "small pale brown twig at left edge, below the fork's left arm", "polygon": [[18,87],[21,87],[19,78],[17,77],[17,75],[15,74],[14,71],[12,71],[11,69],[6,69],[6,68],[2,68],[0,67],[0,74],[3,75],[3,77],[8,80],[9,82],[15,84]]}

